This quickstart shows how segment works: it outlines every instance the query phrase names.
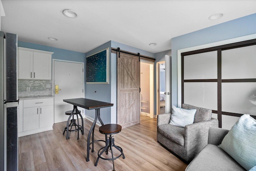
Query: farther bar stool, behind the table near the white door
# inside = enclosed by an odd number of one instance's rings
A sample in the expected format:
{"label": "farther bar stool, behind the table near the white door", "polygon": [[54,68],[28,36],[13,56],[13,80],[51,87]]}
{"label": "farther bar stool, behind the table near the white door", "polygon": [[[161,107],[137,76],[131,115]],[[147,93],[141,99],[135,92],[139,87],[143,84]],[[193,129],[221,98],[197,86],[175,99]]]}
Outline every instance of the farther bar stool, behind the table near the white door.
{"label": "farther bar stool, behind the table near the white door", "polygon": [[[79,110],[79,113],[80,113],[81,111]],[[72,113],[72,110],[69,110],[69,111],[66,111],[65,112],[65,115],[71,115],[71,113]],[[81,132],[82,132],[82,135],[83,135],[83,127],[81,126],[81,125],[79,125],[79,121],[78,121],[78,114],[79,113],[76,113],[76,111],[74,111],[73,112],[73,114],[72,114],[72,119],[70,120],[70,124],[68,125],[68,128],[67,127],[65,127],[64,128],[64,132],[63,132],[63,135],[65,134],[65,131],[67,131],[67,129],[68,129],[68,131],[70,131],[70,133],[71,133],[71,131],[78,131],[78,137],[77,137],[77,139],[79,139],[79,130],[81,130]],[[76,124],[76,119],[74,119],[74,115],[76,115],[76,118],[77,118],[77,122],[78,122],[78,124]],[[82,119],[82,118],[81,118]],[[69,122],[69,120],[68,120],[68,122]],[[72,127],[75,127],[75,129],[72,129]],[[70,127],[70,128],[69,128]],[[68,138],[70,138],[70,133],[69,133],[69,135],[67,135],[67,137]]]}

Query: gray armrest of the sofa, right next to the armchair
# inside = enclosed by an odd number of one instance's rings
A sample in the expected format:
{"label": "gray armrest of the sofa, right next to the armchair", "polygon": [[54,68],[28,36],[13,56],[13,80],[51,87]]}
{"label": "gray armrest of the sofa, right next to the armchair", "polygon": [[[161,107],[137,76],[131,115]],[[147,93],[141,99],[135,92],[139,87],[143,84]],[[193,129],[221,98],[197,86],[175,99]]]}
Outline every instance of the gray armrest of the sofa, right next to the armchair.
{"label": "gray armrest of the sofa, right next to the armchair", "polygon": [[210,127],[208,133],[208,144],[220,145],[229,130]]}

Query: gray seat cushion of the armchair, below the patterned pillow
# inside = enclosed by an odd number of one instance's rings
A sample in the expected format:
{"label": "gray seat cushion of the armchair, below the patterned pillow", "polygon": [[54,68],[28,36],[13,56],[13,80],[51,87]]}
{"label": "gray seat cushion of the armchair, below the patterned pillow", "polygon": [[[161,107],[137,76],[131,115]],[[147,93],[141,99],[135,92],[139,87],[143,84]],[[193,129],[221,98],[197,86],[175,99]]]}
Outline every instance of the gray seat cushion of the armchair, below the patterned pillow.
{"label": "gray seat cushion of the armchair, below the patterned pillow", "polygon": [[161,133],[174,143],[184,146],[185,128],[171,124],[163,124],[158,126],[158,133]]}

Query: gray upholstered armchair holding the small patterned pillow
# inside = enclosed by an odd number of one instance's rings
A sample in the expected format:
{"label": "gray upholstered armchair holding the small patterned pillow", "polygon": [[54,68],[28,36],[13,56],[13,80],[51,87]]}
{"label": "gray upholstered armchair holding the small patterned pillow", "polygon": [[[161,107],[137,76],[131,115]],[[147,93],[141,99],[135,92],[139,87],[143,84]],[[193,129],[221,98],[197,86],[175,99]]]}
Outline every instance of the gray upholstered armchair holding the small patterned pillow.
{"label": "gray upholstered armchair holding the small patterned pillow", "polygon": [[169,124],[171,113],[157,116],[157,141],[186,163],[190,162],[206,145],[209,127],[218,127],[212,110],[182,104],[183,109],[196,109],[194,123],[183,127]]}

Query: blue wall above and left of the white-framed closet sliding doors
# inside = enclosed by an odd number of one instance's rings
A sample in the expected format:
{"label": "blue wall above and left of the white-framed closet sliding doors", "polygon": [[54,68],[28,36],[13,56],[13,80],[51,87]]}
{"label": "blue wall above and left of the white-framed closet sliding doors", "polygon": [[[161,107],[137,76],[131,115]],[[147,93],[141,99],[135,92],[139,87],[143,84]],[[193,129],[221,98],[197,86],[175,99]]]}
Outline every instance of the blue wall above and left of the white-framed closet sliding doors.
{"label": "blue wall above and left of the white-framed closet sliding doors", "polygon": [[172,105],[178,104],[177,50],[256,33],[256,13],[172,38]]}

